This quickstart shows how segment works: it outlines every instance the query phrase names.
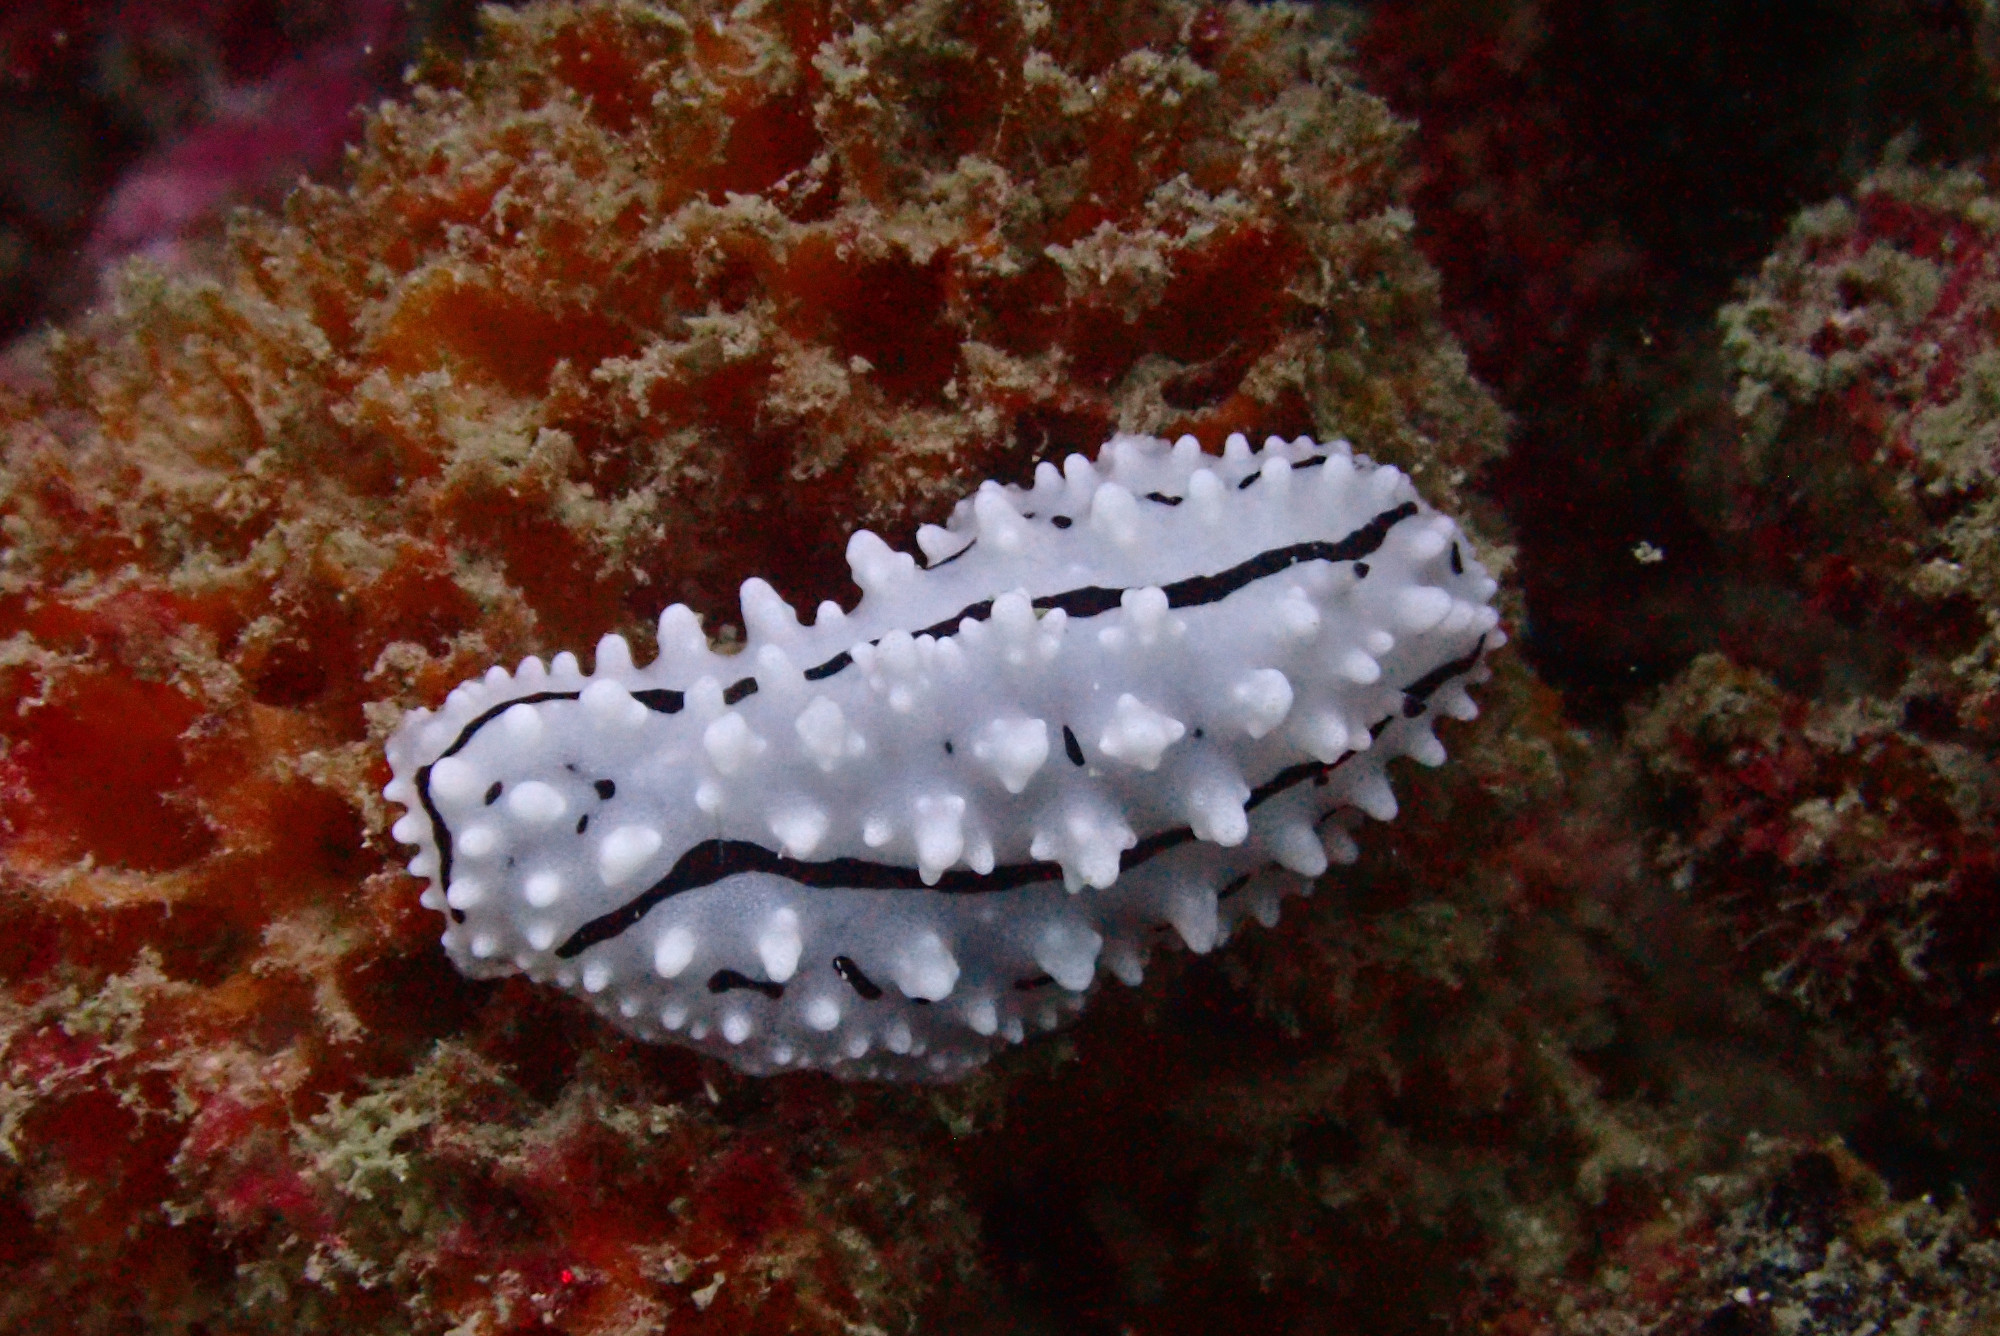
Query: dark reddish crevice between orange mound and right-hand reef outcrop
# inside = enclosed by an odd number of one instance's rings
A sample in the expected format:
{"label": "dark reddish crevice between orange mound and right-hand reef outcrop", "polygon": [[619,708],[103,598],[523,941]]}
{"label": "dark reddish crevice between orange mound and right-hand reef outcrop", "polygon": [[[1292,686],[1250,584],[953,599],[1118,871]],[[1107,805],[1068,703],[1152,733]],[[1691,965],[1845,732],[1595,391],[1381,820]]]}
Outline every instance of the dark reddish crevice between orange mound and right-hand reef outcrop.
{"label": "dark reddish crevice between orange mound and right-hand reef outcrop", "polygon": [[1366,6],[1362,80],[1420,124],[1412,204],[1446,320],[1514,414],[1484,488],[1520,544],[1524,652],[1580,718],[1616,724],[1718,648],[1826,684],[1840,624],[1752,578],[1690,480],[1738,430],[1716,312],[1892,142],[1940,164],[1994,150],[1966,10]]}

